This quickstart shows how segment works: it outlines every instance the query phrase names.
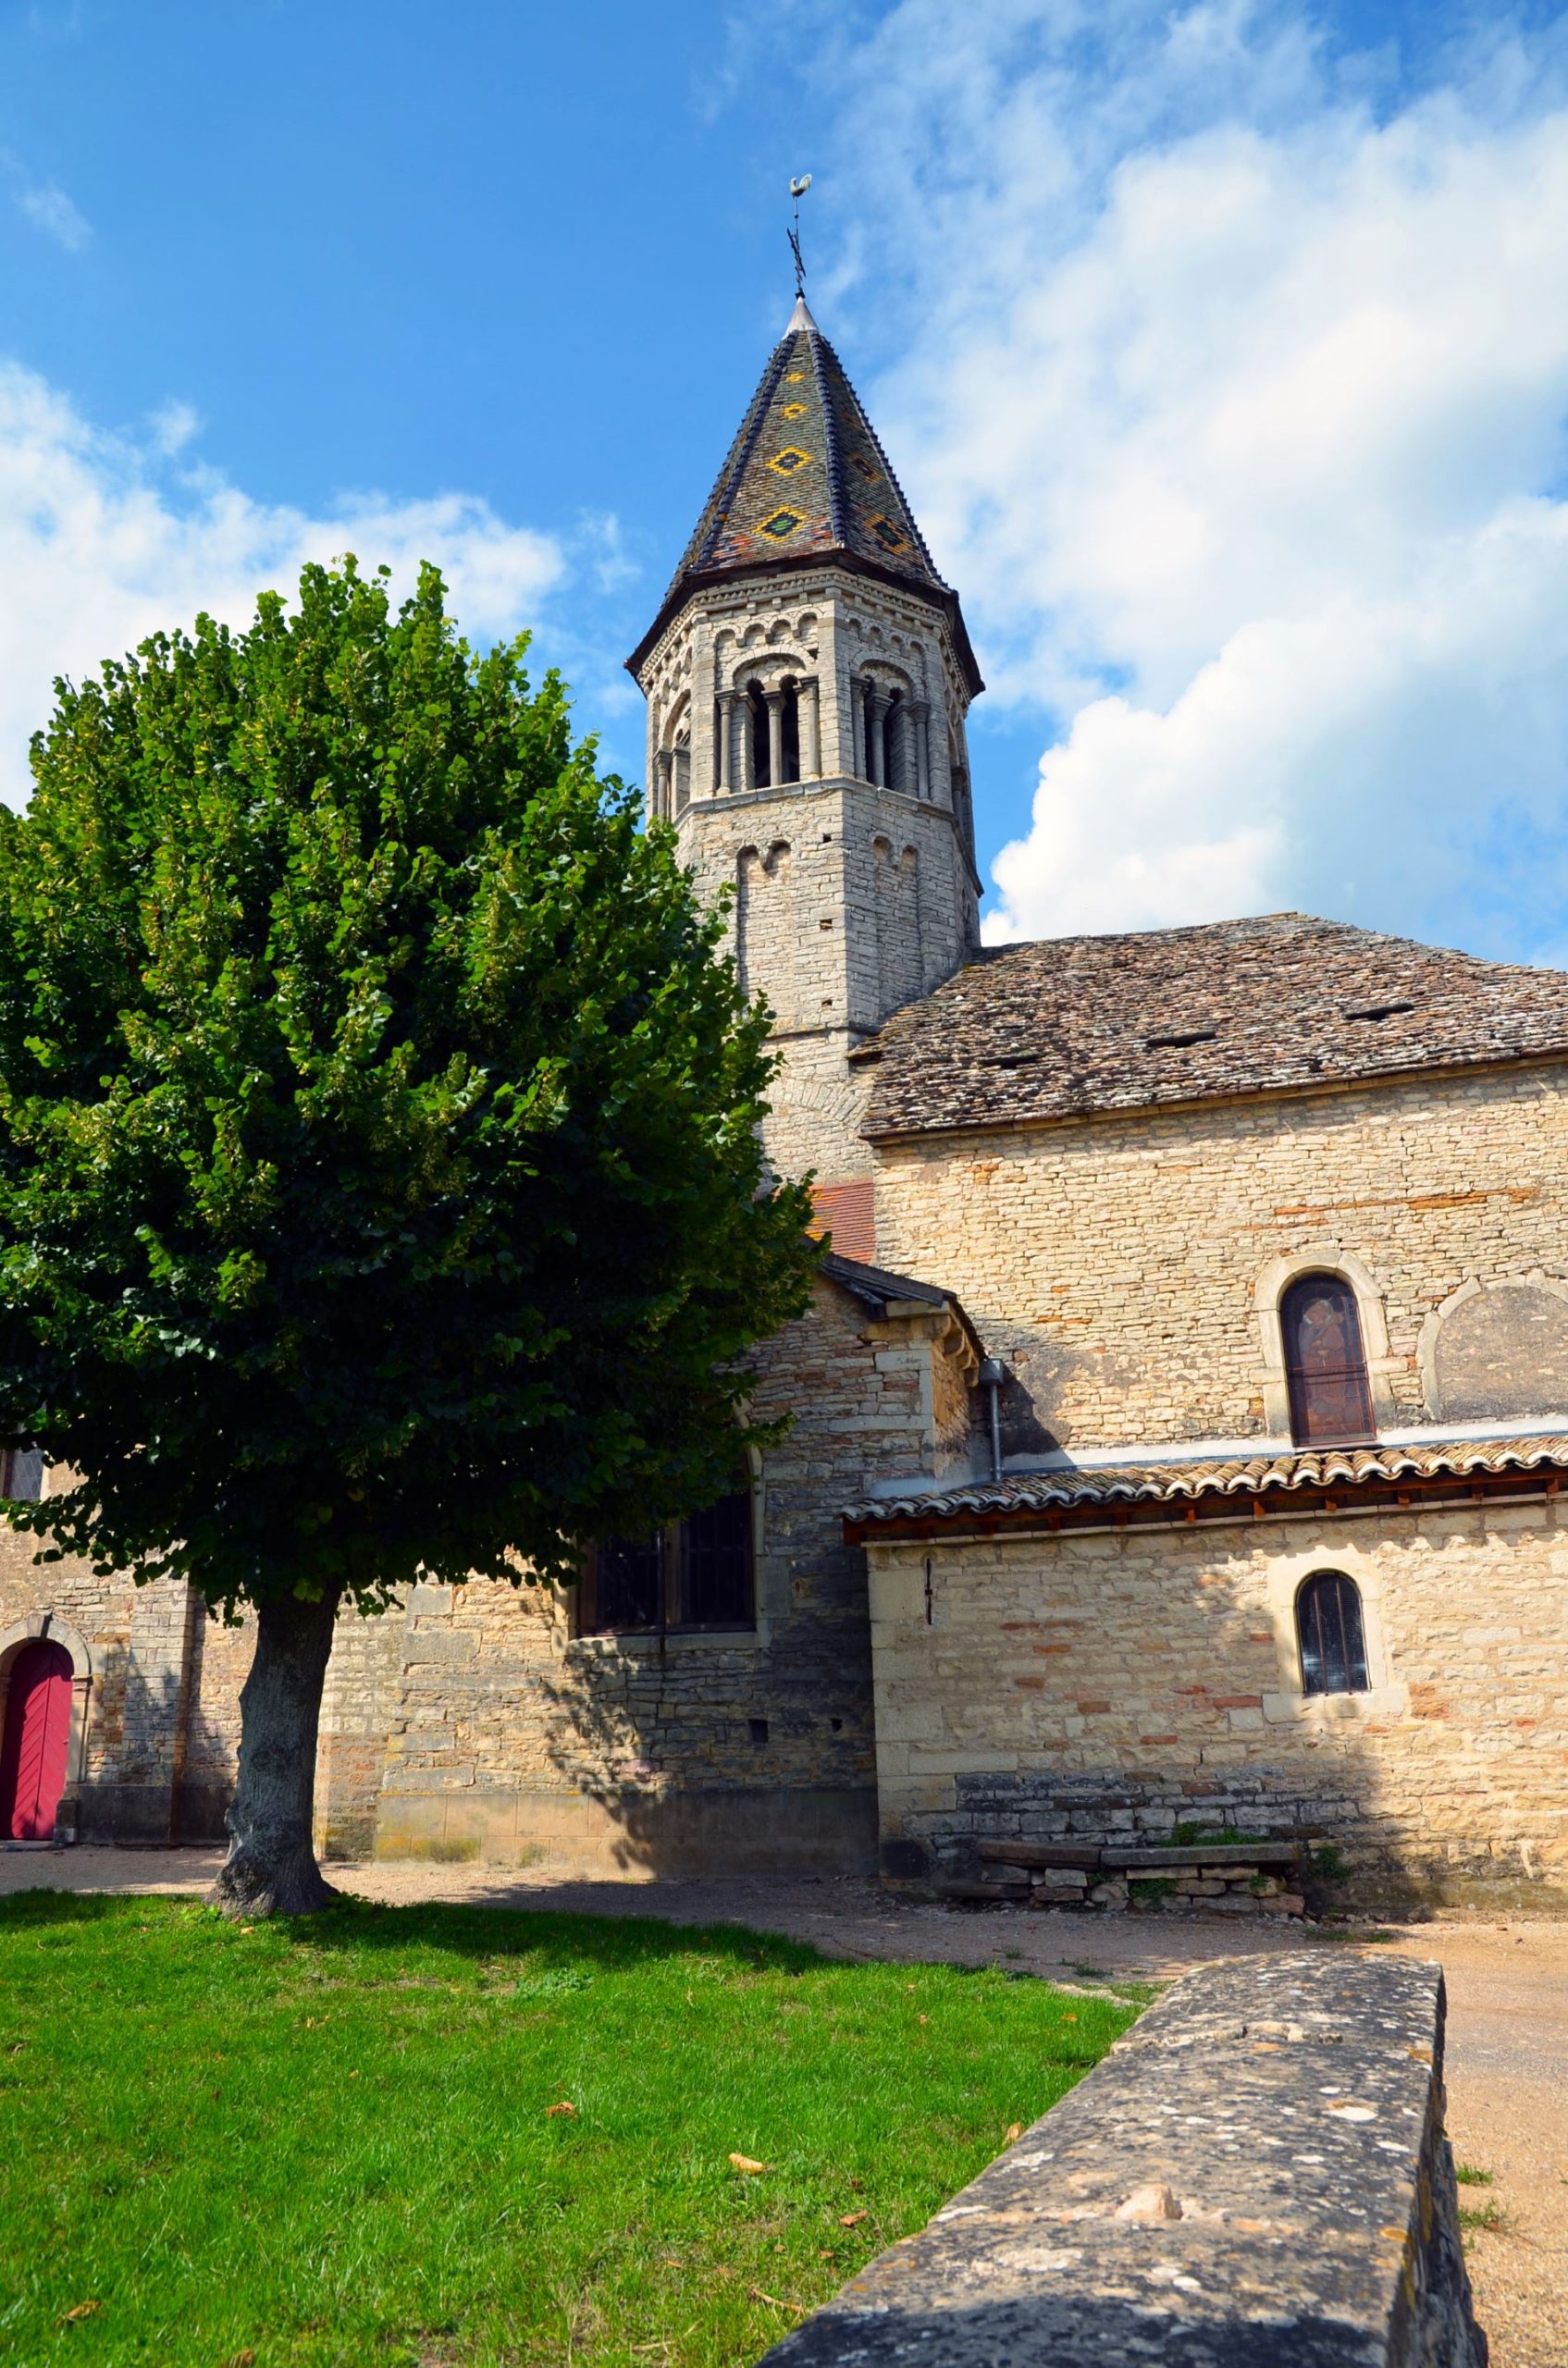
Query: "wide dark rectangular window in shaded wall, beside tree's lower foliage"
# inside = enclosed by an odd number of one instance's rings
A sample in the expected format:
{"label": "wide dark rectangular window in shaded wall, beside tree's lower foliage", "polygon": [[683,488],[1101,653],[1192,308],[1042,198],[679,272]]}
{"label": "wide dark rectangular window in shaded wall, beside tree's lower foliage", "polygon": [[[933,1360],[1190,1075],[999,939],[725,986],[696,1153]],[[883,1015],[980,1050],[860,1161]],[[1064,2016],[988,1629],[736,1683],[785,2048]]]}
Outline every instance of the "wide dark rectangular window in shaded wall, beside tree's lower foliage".
{"label": "wide dark rectangular window in shaded wall, beside tree's lower foliage", "polygon": [[578,1591],[585,1636],[748,1627],[756,1627],[748,1487],[656,1537],[611,1537],[585,1558]]}

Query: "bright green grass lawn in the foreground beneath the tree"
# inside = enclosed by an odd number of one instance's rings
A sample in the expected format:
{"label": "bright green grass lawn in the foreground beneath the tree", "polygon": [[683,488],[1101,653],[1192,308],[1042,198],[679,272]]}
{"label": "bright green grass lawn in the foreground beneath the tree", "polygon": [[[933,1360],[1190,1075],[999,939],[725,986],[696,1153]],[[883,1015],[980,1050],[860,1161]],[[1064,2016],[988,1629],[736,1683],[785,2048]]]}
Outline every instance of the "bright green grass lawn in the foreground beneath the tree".
{"label": "bright green grass lawn in the foreground beneath the tree", "polygon": [[0,2359],[753,2361],[1132,2013],[739,1928],[21,1892]]}

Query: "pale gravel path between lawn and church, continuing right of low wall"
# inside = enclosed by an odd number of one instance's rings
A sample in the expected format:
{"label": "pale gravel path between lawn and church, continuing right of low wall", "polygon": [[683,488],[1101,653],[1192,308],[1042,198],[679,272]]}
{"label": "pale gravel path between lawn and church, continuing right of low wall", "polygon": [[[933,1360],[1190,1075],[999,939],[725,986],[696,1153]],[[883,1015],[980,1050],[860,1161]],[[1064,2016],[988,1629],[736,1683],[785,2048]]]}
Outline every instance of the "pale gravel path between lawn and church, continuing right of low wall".
{"label": "pale gravel path between lawn and church, continuing right of low wall", "polygon": [[[213,1849],[0,1849],[0,1892],[192,1892],[218,1871]],[[1082,1916],[900,1904],[874,1883],[521,1883],[497,1868],[334,1866],[365,1899],[568,1909],[746,1923],[810,1939],[829,1956],[947,1958],[1016,1965],[1066,1982],[1168,1982],[1220,1956],[1338,1946],[1300,1925],[1201,1923],[1177,1916]],[[1461,2202],[1497,2207],[1499,2228],[1471,2245],[1476,2316],[1492,2368],[1568,2368],[1568,1923],[1440,1918],[1395,1925],[1388,1946],[1442,1961],[1450,1994],[1450,2131],[1459,2162],[1490,2171]]]}

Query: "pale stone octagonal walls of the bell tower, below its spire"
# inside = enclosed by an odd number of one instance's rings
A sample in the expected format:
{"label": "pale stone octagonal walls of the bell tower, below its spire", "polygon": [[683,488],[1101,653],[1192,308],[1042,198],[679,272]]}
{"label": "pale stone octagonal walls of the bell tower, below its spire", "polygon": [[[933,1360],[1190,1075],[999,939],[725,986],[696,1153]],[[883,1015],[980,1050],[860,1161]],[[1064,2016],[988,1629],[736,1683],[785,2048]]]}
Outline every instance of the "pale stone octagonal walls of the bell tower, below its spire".
{"label": "pale stone octagonal walls of the bell tower, below its spire", "polygon": [[[767,1148],[782,1175],[865,1177],[865,1089],[846,1054],[888,1011],[947,978],[978,935],[964,770],[966,687],[940,604],[910,587],[834,568],[782,571],[706,587],[642,668],[649,699],[649,784],[689,748],[680,852],[703,895],[734,897],[741,983],[767,995],[786,1068]],[[876,680],[924,708],[917,789],[876,789],[853,725],[855,684]],[[748,682],[803,684],[798,781],[748,789],[741,732],[730,725],[727,789],[715,725],[720,699]],[[815,760],[812,760],[815,741]]]}

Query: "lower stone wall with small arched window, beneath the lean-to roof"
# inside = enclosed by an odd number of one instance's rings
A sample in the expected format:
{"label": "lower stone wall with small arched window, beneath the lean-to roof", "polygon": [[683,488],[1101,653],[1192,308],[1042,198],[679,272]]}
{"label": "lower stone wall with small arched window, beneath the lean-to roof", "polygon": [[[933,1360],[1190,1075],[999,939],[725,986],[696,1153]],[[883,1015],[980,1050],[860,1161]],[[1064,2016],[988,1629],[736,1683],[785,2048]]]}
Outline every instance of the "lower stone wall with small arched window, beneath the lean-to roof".
{"label": "lower stone wall with small arched window, beneath the lean-to roof", "polygon": [[[883,1864],[1177,1821],[1355,1873],[1568,1883],[1559,1499],[872,1544]],[[1362,1594],[1367,1693],[1300,1691],[1296,1591]]]}

